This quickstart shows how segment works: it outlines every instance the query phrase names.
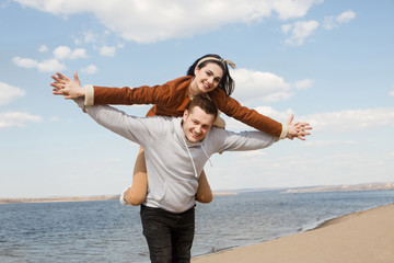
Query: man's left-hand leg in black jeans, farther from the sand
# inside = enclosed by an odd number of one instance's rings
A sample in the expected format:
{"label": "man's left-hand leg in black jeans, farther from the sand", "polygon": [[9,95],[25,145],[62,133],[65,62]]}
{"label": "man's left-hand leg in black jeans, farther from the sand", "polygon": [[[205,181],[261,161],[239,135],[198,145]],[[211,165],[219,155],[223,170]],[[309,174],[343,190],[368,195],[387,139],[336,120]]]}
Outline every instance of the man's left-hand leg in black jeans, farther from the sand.
{"label": "man's left-hand leg in black jeans, farther from the sand", "polygon": [[166,211],[141,205],[143,236],[152,263],[172,263],[171,218]]}

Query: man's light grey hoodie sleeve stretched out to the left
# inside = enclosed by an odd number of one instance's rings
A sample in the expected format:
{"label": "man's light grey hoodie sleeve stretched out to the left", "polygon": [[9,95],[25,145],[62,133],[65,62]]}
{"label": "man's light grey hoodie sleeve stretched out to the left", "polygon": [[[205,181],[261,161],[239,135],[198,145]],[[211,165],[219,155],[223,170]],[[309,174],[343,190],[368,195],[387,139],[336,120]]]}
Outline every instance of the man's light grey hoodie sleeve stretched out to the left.
{"label": "man's light grey hoodie sleeve stretched out to the left", "polygon": [[154,127],[161,126],[160,124],[154,125],[154,122],[147,118],[127,115],[108,105],[85,106],[83,98],[74,101],[83,112],[88,113],[101,126],[142,146],[153,141],[150,132]]}

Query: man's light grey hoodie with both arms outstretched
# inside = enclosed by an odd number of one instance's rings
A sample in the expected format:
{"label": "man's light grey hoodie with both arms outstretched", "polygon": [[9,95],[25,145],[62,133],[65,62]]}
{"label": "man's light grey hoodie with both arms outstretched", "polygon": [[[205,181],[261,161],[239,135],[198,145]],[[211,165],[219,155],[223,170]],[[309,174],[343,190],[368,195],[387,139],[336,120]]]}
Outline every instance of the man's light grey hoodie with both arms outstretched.
{"label": "man's light grey hoodie with both arms outstretched", "polygon": [[204,140],[189,142],[181,117],[135,117],[112,106],[76,102],[100,125],[143,147],[148,171],[143,205],[172,213],[195,205],[197,180],[211,155],[263,149],[278,140],[262,132],[233,133],[213,126]]}

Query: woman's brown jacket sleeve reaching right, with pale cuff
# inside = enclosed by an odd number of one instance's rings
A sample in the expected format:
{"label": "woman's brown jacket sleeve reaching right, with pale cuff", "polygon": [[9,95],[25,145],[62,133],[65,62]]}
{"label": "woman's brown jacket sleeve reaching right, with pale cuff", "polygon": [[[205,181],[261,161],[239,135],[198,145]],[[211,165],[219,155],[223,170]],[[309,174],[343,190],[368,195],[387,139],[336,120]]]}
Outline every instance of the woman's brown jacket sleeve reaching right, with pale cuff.
{"label": "woman's brown jacket sleeve reaching right, with pale cuff", "polygon": [[210,93],[210,98],[217,107],[225,115],[280,139],[286,138],[288,132],[286,124],[278,123],[270,117],[259,114],[255,110],[242,106],[236,100],[228,96],[223,90],[213,90]]}

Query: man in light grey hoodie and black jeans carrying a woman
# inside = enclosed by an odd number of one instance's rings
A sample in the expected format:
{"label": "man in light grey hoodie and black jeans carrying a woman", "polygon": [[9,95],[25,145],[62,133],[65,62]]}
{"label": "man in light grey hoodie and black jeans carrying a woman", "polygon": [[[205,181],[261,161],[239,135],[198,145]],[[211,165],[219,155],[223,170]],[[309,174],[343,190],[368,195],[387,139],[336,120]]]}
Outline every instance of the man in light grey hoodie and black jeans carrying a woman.
{"label": "man in light grey hoodie and black jeans carrying a woman", "polygon": [[107,105],[84,106],[100,125],[141,145],[146,150],[148,194],[141,221],[151,262],[189,262],[195,232],[198,176],[215,152],[255,150],[277,137],[262,132],[233,133],[212,126],[215,104],[196,96],[183,117],[135,117]]}

